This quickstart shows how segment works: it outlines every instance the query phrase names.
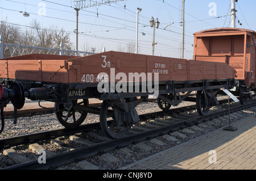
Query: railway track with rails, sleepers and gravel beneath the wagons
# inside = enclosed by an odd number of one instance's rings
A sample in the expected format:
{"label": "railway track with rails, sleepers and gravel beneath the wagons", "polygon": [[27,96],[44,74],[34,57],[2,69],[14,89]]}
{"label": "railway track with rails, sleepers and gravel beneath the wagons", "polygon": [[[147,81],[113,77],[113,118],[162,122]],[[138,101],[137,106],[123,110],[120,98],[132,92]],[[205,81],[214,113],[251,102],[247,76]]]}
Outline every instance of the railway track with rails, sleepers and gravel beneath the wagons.
{"label": "railway track with rails, sleepers and gravel beneath the wagons", "polygon": [[[256,106],[255,100],[246,106],[237,105],[232,104],[230,108],[232,119],[240,119],[243,116],[242,112],[236,113],[238,110],[249,108],[249,113],[255,112],[255,108],[250,108]],[[9,156],[19,154],[23,158],[29,154],[34,155],[34,159],[31,161],[19,159],[24,163],[17,162],[18,164],[13,165],[13,163],[10,166],[7,164],[3,169],[70,169],[72,166],[75,166],[75,169],[86,169],[88,165],[95,169],[118,169],[125,164],[120,163],[123,160],[128,164],[138,160],[138,157],[143,157],[143,155],[146,157],[148,154],[167,149],[193,137],[192,135],[203,134],[204,129],[213,129],[216,123],[218,127],[223,127],[228,119],[226,115],[228,109],[225,107],[227,105],[224,105],[224,108],[213,107],[210,115],[207,116],[198,116],[194,111],[195,106],[187,107],[186,111],[184,108],[177,108],[168,112],[140,115],[141,121],[134,125],[126,137],[118,140],[104,137],[98,123],[82,125],[79,129],[59,129],[2,139],[0,146],[5,148],[3,152],[10,151],[10,148],[14,146],[11,148],[13,150]],[[30,146],[27,146],[28,144]],[[55,148],[54,153],[51,152],[52,148]],[[47,150],[46,163],[39,164],[38,151],[42,149]],[[122,151],[126,153],[123,154]],[[116,155],[120,154],[121,157],[118,158]]]}

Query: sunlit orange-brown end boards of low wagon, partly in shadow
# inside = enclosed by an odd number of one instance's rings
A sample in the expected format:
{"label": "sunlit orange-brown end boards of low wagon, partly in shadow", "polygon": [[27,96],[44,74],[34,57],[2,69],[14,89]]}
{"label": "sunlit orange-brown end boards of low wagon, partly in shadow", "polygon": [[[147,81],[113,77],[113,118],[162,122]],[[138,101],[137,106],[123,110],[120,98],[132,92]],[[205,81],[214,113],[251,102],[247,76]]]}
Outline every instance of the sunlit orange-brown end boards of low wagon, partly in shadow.
{"label": "sunlit orange-brown end boards of low wagon, partly in shadow", "polygon": [[1,78],[68,83],[67,59],[73,56],[28,54],[0,60]]}

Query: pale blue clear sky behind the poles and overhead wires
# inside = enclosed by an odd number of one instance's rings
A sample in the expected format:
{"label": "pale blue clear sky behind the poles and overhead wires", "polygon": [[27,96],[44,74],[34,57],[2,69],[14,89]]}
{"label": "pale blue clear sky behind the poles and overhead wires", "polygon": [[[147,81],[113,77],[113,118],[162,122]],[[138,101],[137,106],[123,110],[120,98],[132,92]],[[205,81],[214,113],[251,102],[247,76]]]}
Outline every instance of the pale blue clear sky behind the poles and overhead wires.
{"label": "pale blue clear sky behind the poles and overhead wires", "polygon": [[[90,0],[87,0],[88,2]],[[94,0],[96,1],[96,0]],[[97,0],[106,2],[109,0]],[[231,0],[185,0],[184,58],[193,58],[193,33],[210,28],[231,27]],[[141,54],[152,54],[151,17],[158,18],[155,30],[155,56],[180,58],[182,40],[182,0],[123,0],[86,7],[79,11],[79,50],[95,48],[96,52],[117,51],[135,44],[138,17],[138,47]],[[256,30],[256,1],[238,0],[237,28]],[[29,17],[22,15],[28,12]],[[1,0],[1,20],[28,29],[33,19],[44,27],[56,26],[70,34],[76,48],[76,11],[73,0]],[[238,20],[242,25],[238,23]]]}

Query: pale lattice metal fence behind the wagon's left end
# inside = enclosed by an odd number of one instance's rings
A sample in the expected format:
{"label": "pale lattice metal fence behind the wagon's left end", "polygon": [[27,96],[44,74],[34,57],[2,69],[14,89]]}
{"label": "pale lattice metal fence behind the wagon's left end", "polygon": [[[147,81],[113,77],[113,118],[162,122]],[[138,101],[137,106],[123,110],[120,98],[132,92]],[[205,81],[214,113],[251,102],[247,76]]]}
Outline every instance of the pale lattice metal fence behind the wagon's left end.
{"label": "pale lattice metal fence behind the wagon's left end", "polygon": [[77,56],[77,57],[94,54],[93,52],[82,52],[82,51],[76,51],[76,50],[63,49],[62,41],[60,44],[60,49],[31,47],[31,46],[3,43],[3,36],[2,34],[0,35],[0,58],[20,56],[20,55],[31,54],[31,53],[56,54],[56,55],[67,55],[67,56]]}

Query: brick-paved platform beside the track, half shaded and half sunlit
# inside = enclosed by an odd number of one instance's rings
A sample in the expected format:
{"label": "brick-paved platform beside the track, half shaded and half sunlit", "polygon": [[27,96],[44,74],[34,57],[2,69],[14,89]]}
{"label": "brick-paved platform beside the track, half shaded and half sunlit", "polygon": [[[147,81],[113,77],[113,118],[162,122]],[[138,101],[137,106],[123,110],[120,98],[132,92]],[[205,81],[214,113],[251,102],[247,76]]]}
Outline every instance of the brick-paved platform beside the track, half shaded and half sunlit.
{"label": "brick-paved platform beside the track, half shaded and half sunlit", "polygon": [[237,131],[217,129],[121,169],[256,170],[255,113],[232,126]]}

